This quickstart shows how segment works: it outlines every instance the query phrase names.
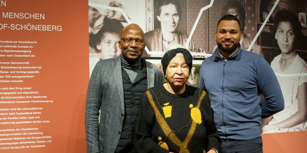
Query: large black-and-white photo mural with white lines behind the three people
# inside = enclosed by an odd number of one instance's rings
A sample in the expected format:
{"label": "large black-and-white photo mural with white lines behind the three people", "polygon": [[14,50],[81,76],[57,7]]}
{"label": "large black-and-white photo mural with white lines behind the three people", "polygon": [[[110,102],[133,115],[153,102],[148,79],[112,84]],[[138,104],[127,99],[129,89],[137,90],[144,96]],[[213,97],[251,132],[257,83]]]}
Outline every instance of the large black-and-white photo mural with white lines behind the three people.
{"label": "large black-and-white photo mural with white lines behind the three people", "polygon": [[[120,32],[130,23],[145,33],[146,59],[160,59],[171,44],[209,57],[218,51],[218,20],[232,14],[242,25],[241,48],[266,59],[283,92],[284,111],[263,119],[262,132],[307,131],[306,13],[307,0],[89,0],[90,72],[120,55]],[[192,71],[188,83],[198,86],[199,66]]]}

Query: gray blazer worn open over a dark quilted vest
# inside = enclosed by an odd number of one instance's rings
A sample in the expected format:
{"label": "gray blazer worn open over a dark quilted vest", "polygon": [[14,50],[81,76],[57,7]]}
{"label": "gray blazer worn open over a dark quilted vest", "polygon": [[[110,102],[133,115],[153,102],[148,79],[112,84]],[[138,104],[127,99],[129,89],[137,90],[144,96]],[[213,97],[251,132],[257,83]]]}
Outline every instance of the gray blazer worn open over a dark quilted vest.
{"label": "gray blazer worn open over a dark quilted vest", "polygon": [[[148,88],[162,83],[161,70],[146,62]],[[98,124],[99,110],[100,123]],[[124,93],[121,57],[97,62],[86,95],[85,130],[88,153],[114,153],[122,132]]]}

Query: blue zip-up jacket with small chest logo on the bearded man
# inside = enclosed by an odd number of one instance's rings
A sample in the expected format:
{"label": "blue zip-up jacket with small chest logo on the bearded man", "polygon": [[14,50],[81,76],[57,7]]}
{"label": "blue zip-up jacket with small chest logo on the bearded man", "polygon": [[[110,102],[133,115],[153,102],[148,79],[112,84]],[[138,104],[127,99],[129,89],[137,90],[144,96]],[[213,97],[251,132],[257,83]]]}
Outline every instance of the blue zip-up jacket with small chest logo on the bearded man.
{"label": "blue zip-up jacket with small chest logo on the bearded man", "polygon": [[[259,137],[261,118],[284,109],[279,83],[268,62],[241,47],[226,62],[217,48],[202,62],[199,82],[199,88],[209,93],[222,139]],[[261,94],[265,101],[259,104]]]}

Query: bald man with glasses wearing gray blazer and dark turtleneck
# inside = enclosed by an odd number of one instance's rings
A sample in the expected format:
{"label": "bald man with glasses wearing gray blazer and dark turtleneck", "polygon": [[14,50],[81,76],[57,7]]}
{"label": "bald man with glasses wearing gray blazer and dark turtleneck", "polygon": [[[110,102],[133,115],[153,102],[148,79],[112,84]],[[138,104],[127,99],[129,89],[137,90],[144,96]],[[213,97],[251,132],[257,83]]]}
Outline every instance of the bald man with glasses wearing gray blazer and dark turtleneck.
{"label": "bald man with glasses wearing gray blazer and dark turtleneck", "polygon": [[88,153],[135,152],[132,136],[139,100],[163,80],[160,69],[141,58],[145,42],[138,25],[122,30],[118,46],[122,54],[99,61],[91,74],[85,110]]}

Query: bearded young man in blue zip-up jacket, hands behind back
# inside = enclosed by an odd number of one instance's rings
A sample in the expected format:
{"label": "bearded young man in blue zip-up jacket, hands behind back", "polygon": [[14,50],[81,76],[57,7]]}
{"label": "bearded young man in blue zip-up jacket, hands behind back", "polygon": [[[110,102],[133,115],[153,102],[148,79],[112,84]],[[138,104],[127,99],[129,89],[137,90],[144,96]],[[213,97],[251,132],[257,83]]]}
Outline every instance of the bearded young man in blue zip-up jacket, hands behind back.
{"label": "bearded young man in blue zip-up jacket, hands behind back", "polygon": [[[216,48],[200,67],[199,88],[209,93],[224,153],[262,151],[261,118],[284,109],[277,78],[263,57],[241,49],[240,21],[222,17]],[[265,101],[260,103],[263,94]]]}

